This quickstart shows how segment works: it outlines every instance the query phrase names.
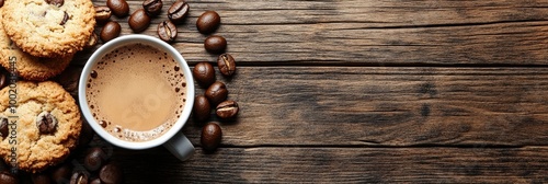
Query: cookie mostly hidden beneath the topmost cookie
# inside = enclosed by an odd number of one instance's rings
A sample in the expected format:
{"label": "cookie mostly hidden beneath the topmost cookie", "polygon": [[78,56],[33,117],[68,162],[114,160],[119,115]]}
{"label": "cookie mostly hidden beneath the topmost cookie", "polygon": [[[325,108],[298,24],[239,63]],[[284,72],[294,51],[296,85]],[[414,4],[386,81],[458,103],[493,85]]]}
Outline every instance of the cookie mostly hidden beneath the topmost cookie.
{"label": "cookie mostly hidden beneath the topmost cookie", "polygon": [[[0,9],[0,16],[2,9]],[[72,55],[62,58],[38,58],[24,53],[8,38],[0,21],[0,65],[7,69],[14,66],[15,71],[23,79],[47,80],[65,70],[71,60]],[[14,65],[10,65],[10,61]]]}

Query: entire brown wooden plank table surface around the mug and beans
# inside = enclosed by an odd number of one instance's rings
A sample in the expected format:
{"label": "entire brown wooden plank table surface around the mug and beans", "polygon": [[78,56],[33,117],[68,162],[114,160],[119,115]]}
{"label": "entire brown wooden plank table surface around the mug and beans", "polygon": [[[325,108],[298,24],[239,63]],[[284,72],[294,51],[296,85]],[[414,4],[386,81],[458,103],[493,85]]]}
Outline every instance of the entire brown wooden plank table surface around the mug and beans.
{"label": "entire brown wooden plank table surface around the mug and beans", "polygon": [[[172,2],[142,34],[156,35]],[[548,182],[546,0],[189,3],[173,46],[191,67],[214,64],[195,22],[217,11],[215,34],[239,67],[217,79],[241,112],[220,123],[213,153],[191,119],[185,162],[162,147],[115,148],[126,183]]]}

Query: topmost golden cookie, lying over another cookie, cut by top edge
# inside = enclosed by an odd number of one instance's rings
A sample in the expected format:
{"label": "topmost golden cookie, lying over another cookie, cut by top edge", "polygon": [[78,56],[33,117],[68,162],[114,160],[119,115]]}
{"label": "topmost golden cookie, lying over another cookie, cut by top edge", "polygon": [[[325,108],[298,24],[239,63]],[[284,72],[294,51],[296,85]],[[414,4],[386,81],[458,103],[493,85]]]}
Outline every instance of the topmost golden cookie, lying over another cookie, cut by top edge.
{"label": "topmost golden cookie, lying over another cookie, cut by top edge", "polygon": [[91,0],[5,0],[2,9],[5,33],[23,51],[36,57],[76,54],[95,26]]}

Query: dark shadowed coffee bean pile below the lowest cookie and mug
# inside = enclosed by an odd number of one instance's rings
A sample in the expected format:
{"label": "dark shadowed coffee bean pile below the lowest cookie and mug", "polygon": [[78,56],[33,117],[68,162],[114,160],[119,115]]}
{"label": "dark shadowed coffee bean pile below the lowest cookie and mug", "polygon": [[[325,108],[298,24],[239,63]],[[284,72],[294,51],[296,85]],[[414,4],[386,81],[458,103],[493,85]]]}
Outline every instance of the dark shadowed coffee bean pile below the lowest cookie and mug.
{"label": "dark shadowed coffee bean pile below the lowest cookie and mug", "polygon": [[[119,184],[123,170],[113,158],[113,147],[94,136],[88,123],[82,123],[78,147],[65,162],[37,173],[13,171],[0,161],[0,183],[67,183],[67,184]],[[10,171],[12,170],[12,171]]]}

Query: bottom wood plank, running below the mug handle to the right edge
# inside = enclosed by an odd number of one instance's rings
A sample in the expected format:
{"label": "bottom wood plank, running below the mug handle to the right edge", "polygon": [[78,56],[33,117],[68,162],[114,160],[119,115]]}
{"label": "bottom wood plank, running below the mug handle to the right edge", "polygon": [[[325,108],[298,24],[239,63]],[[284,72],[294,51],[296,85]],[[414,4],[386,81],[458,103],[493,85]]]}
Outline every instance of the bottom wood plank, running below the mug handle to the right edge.
{"label": "bottom wood plank, running below the mug handle to the right edge", "polygon": [[548,182],[546,147],[220,148],[207,154],[198,148],[185,162],[155,148],[115,150],[114,158],[126,183]]}

